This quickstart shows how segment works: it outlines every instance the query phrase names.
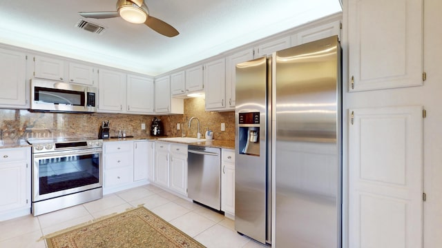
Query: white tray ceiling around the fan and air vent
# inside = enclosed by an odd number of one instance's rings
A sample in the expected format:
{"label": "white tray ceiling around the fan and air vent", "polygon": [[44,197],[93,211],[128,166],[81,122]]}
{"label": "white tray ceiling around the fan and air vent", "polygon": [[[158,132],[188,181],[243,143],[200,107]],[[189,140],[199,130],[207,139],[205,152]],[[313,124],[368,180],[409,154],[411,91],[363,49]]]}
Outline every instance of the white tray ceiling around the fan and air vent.
{"label": "white tray ceiling around the fan and air vent", "polygon": [[75,27],[77,12],[115,11],[116,2],[0,1],[0,43],[156,76],[342,10],[339,0],[145,0],[177,37],[120,17],[86,19],[102,34]]}

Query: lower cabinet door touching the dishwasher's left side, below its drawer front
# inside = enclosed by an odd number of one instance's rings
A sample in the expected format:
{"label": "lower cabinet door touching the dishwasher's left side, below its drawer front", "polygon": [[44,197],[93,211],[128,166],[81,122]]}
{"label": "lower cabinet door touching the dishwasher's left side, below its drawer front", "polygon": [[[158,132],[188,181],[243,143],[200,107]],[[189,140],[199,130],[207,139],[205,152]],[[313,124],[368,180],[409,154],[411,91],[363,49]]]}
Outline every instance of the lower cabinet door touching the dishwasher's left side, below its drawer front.
{"label": "lower cabinet door touching the dishwasher's left side, below its drawer front", "polygon": [[171,189],[187,196],[187,154],[171,154]]}

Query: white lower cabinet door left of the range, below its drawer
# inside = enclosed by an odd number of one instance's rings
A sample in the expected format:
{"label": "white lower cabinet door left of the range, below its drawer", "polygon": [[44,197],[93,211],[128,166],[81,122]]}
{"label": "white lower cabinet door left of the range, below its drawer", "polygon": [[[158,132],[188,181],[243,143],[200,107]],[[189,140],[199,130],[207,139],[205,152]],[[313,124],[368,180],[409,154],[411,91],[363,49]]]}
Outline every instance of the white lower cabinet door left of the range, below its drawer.
{"label": "white lower cabinet door left of the range, below its drawer", "polygon": [[27,164],[23,161],[0,163],[0,213],[26,207],[27,198]]}

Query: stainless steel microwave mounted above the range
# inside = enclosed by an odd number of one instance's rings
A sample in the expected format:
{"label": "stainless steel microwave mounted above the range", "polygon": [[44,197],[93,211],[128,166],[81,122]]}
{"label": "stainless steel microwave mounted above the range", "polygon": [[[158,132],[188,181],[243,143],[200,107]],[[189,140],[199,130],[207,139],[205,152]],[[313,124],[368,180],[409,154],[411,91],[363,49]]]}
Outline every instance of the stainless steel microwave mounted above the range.
{"label": "stainless steel microwave mounted above the range", "polygon": [[30,81],[30,109],[48,112],[97,112],[96,87],[44,81]]}

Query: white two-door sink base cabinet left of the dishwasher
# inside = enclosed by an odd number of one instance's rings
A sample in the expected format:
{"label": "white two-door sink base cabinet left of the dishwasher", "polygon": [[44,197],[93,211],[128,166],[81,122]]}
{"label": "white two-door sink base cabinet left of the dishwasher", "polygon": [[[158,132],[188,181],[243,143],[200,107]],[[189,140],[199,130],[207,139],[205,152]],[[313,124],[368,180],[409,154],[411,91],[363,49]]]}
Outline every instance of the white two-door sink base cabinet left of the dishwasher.
{"label": "white two-door sink base cabinet left of the dishwasher", "polygon": [[156,143],[155,184],[187,196],[187,145]]}

